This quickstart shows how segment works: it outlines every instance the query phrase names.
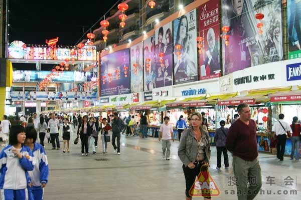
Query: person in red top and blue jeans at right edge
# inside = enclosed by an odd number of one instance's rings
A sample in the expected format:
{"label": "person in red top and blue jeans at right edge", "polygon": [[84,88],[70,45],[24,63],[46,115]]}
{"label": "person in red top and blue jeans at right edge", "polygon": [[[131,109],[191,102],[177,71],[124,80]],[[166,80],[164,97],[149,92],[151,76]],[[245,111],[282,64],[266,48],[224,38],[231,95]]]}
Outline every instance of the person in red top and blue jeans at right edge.
{"label": "person in red top and blue jeans at right edge", "polygon": [[292,123],[290,125],[292,130],[291,135],[291,153],[290,153],[290,159],[293,160],[294,152],[296,151],[296,161],[299,161],[300,158],[300,152],[299,152],[299,146],[300,146],[300,137],[301,137],[301,124],[298,123],[298,117],[294,116],[292,117]]}

